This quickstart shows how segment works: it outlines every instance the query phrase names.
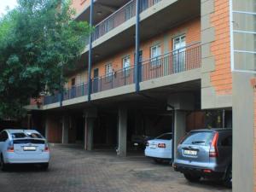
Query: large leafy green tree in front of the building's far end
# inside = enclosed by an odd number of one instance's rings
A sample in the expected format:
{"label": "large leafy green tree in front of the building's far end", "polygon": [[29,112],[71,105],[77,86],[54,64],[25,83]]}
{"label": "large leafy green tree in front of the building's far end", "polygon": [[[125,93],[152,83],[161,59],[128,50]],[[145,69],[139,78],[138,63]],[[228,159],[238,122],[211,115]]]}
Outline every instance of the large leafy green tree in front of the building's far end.
{"label": "large leafy green tree in front of the building's far end", "polygon": [[90,33],[74,15],[70,1],[18,0],[0,17],[0,119],[22,116],[42,91],[61,90],[62,69],[79,60]]}

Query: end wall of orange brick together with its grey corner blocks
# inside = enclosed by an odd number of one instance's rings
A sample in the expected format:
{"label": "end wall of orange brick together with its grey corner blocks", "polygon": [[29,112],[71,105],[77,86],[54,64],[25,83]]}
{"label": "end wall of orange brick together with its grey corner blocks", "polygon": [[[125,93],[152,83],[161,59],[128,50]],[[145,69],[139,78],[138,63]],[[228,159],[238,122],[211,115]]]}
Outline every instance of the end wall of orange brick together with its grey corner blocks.
{"label": "end wall of orange brick together with its grey corner blocks", "polygon": [[202,108],[232,106],[229,0],[201,0]]}

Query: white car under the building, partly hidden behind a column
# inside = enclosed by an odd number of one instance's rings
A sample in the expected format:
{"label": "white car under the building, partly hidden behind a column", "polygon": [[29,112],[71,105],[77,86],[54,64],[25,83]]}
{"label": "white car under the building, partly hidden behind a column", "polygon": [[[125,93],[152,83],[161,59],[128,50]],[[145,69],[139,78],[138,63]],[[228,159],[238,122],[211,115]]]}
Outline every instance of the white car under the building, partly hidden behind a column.
{"label": "white car under the building, partly hidden behind a column", "polygon": [[145,149],[145,156],[160,160],[172,160],[172,133],[168,132],[149,140]]}

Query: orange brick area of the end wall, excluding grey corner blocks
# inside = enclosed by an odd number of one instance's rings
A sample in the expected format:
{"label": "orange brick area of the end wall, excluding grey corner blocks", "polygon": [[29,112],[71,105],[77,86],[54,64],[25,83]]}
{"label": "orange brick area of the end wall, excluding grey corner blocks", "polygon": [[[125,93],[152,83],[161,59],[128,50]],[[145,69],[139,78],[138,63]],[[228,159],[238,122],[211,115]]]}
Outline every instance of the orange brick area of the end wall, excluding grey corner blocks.
{"label": "orange brick area of the end wall, excluding grey corner blocks", "polygon": [[218,95],[232,93],[230,69],[230,8],[229,0],[215,0],[215,11],[211,15],[215,27],[215,41],[211,45],[215,58],[215,71],[211,73],[212,86]]}

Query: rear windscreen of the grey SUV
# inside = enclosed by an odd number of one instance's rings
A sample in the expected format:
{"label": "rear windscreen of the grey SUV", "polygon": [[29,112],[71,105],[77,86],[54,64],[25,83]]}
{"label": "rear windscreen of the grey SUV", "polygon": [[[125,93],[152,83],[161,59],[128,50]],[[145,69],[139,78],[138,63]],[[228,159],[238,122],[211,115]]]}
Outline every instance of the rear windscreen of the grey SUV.
{"label": "rear windscreen of the grey SUV", "polygon": [[190,132],[182,144],[209,145],[212,143],[213,132]]}

